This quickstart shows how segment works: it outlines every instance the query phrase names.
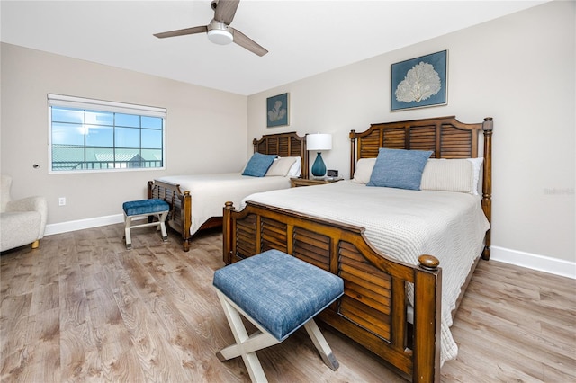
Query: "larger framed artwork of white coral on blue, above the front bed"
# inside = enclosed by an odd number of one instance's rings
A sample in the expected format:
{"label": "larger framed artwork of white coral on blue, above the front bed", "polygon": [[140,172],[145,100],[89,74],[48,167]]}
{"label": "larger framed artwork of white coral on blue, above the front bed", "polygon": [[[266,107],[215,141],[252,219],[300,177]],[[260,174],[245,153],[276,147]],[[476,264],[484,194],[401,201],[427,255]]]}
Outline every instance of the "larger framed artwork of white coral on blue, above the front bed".
{"label": "larger framed artwork of white coral on blue, above the front bed", "polygon": [[392,111],[446,105],[448,51],[392,64]]}

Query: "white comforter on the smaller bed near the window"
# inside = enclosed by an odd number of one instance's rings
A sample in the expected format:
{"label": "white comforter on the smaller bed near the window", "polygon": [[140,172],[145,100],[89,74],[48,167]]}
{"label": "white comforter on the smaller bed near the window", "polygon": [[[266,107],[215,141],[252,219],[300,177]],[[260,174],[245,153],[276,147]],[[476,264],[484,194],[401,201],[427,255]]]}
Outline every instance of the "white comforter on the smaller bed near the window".
{"label": "white comforter on the smaller bed near the window", "polygon": [[290,187],[290,177],[251,177],[239,173],[172,175],[157,179],[180,185],[181,191],[192,195],[192,236],[211,217],[221,217],[224,203],[239,206],[242,199],[258,191]]}

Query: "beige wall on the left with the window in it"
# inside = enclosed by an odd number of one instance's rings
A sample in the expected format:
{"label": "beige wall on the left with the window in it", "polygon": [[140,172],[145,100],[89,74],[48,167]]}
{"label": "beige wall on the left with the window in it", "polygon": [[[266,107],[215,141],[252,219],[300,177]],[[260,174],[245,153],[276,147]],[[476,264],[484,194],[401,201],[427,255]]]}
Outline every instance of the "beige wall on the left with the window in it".
{"label": "beige wall on the left with the window in it", "polygon": [[[1,54],[2,173],[14,177],[14,196],[47,197],[49,225],[121,214],[121,203],[144,198],[157,176],[238,171],[246,163],[246,96],[4,43]],[[48,174],[49,93],[167,108],[166,171]],[[206,141],[215,132],[218,142]],[[67,205],[58,207],[58,197]]]}

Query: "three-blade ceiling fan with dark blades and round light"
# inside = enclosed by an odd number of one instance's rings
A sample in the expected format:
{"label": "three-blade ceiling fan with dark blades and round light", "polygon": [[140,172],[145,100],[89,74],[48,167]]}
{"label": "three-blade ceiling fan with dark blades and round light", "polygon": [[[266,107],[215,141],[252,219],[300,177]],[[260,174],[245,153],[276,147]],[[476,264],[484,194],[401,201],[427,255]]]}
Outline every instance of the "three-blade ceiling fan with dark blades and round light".
{"label": "three-blade ceiling fan with dark blades and round light", "polygon": [[158,39],[166,37],[184,36],[187,34],[203,33],[208,34],[208,39],[216,44],[225,45],[230,42],[237,43],[240,47],[264,56],[268,51],[257,44],[256,41],[248,38],[244,33],[230,27],[229,24],[234,19],[234,14],[238,8],[240,0],[212,0],[211,8],[214,10],[214,18],[210,24],[192,28],[184,28],[177,31],[166,31],[155,33]]}

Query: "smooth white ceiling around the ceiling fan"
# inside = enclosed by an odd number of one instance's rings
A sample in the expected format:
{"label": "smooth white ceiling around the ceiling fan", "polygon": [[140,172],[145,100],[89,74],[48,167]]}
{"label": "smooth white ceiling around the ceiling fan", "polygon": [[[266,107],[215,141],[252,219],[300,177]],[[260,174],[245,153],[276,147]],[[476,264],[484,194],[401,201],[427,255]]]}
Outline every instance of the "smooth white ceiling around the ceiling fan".
{"label": "smooth white ceiling around the ceiling fan", "polygon": [[258,57],[205,33],[152,36],[208,24],[210,0],[2,0],[0,38],[249,95],[545,2],[243,0],[231,26],[269,50]]}

